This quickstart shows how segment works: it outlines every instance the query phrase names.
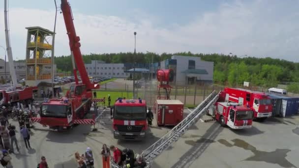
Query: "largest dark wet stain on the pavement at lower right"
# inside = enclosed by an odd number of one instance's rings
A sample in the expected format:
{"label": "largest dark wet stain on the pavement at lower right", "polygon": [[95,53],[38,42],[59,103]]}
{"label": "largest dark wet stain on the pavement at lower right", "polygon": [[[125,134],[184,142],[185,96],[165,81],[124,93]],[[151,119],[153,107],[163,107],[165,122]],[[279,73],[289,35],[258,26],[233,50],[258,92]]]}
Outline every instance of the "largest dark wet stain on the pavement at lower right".
{"label": "largest dark wet stain on the pavement at lower right", "polygon": [[297,168],[286,159],[287,153],[291,151],[290,149],[276,149],[272,152],[266,152],[257,150],[256,147],[252,146],[244,140],[234,139],[232,141],[234,142],[233,144],[227,140],[218,140],[219,143],[227,147],[237,146],[243,148],[244,150],[250,150],[254,154],[254,156],[250,156],[244,161],[266,162],[271,164],[278,164],[283,168]]}

